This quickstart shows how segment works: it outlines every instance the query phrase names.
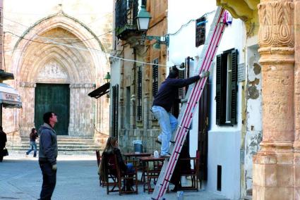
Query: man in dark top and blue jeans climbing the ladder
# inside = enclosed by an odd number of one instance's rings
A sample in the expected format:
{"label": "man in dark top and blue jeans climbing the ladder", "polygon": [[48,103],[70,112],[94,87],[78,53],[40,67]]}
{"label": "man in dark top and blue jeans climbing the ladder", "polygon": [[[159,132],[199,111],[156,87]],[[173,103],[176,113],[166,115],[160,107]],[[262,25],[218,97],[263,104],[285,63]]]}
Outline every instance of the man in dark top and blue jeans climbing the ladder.
{"label": "man in dark top and blue jeans climbing the ladder", "polygon": [[160,123],[160,129],[162,132],[157,137],[157,141],[162,144],[160,149],[160,156],[169,157],[169,142],[172,137],[172,132],[176,129],[177,119],[169,113],[174,104],[174,101],[178,98],[176,92],[180,87],[186,87],[193,82],[200,80],[202,77],[208,77],[210,73],[203,72],[200,75],[189,77],[187,79],[178,79],[179,71],[174,68],[170,70],[167,77],[160,89],[158,90],[155,99],[152,104],[152,113]]}

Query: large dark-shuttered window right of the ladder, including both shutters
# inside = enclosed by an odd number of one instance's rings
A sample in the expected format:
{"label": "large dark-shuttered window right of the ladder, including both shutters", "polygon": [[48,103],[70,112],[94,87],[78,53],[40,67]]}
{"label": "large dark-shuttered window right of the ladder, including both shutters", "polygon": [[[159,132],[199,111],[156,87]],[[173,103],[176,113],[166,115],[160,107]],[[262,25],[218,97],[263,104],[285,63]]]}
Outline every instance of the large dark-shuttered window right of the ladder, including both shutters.
{"label": "large dark-shuttered window right of the ladder, including both shutters", "polygon": [[217,125],[236,125],[237,56],[236,49],[217,55]]}

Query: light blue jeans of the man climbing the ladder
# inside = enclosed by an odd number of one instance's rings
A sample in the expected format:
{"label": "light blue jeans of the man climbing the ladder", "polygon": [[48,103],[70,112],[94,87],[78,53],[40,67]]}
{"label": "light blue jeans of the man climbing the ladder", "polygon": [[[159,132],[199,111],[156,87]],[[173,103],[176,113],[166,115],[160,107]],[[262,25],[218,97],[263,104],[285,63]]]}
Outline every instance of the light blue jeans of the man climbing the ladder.
{"label": "light blue jeans of the man climbing the ladder", "polygon": [[158,137],[162,141],[160,156],[164,156],[169,154],[169,142],[178,122],[174,115],[168,113],[161,106],[153,106],[152,112],[155,118],[157,118],[158,123],[160,123],[160,129],[162,130]]}

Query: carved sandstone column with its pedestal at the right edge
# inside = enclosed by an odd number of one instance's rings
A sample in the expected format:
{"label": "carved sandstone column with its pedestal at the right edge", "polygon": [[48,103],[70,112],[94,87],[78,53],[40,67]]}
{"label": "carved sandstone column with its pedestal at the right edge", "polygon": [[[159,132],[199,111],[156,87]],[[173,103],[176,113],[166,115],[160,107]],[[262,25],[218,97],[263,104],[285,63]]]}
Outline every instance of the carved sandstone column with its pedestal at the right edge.
{"label": "carved sandstone column with its pedestal at the right edge", "polygon": [[258,5],[263,142],[253,156],[253,199],[294,199],[294,3]]}

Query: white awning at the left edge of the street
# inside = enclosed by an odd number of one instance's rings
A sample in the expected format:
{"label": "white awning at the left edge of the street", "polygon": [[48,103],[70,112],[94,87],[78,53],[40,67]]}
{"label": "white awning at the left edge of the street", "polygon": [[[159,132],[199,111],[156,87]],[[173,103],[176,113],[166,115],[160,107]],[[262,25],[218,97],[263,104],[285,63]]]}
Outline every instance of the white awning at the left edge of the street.
{"label": "white awning at the left edge of the street", "polygon": [[22,107],[18,91],[5,83],[0,83],[0,104],[2,104],[4,108]]}

